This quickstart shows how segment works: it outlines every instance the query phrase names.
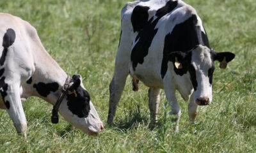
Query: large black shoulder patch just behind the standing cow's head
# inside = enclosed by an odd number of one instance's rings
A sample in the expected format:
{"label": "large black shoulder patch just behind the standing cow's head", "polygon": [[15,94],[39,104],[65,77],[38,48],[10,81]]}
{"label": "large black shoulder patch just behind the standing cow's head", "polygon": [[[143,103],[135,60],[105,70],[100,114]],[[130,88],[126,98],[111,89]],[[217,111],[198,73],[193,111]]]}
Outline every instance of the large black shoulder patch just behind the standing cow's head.
{"label": "large black shoulder patch just behind the standing cow's head", "polygon": [[[172,33],[169,33],[164,38],[163,61],[161,65],[161,77],[167,71],[168,55],[172,52],[189,52],[198,45],[206,45],[209,47],[207,34],[202,33],[196,15],[191,15],[188,20],[175,25]],[[191,57],[190,57],[191,58]],[[190,59],[191,61],[191,59]],[[177,75],[184,75],[186,71],[174,69]]]}

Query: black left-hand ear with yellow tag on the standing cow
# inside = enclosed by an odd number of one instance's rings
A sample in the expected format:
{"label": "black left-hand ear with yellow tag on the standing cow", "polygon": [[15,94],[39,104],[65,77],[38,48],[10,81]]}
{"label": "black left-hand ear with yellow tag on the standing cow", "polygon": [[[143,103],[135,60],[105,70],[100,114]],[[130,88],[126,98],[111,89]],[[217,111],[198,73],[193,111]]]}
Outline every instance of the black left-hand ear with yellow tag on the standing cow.
{"label": "black left-hand ear with yellow tag on the standing cow", "polygon": [[172,52],[169,54],[168,59],[173,62],[175,68],[182,69],[184,67],[182,63],[186,59],[186,54],[184,52]]}

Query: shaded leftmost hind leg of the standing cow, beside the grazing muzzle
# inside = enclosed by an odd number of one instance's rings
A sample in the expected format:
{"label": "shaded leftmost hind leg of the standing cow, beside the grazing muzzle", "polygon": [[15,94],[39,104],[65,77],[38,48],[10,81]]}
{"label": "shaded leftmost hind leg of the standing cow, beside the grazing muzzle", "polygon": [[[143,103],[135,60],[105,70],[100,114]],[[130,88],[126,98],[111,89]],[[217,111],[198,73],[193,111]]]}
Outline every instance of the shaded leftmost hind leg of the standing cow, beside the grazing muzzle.
{"label": "shaded leftmost hind leg of the standing cow, beside the grazing muzzle", "polygon": [[116,64],[115,75],[109,85],[108,124],[111,124],[115,118],[116,106],[118,105],[122,92],[124,91],[127,75],[128,71],[125,71],[125,68],[121,68],[120,65]]}

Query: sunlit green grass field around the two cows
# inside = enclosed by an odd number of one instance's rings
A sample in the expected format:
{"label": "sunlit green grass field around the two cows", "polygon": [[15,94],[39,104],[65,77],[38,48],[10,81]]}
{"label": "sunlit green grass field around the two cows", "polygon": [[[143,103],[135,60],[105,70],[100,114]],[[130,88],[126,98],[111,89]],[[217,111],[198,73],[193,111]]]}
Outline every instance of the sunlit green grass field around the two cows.
{"label": "sunlit green grass field around the two cows", "polygon": [[[116,126],[88,136],[61,119],[51,124],[52,106],[42,99],[23,103],[28,139],[17,136],[0,110],[0,152],[256,152],[256,3],[255,0],[186,0],[204,22],[211,47],[236,58],[213,78],[213,101],[200,106],[189,124],[188,102],[180,101],[179,133],[161,92],[159,124],[150,125],[148,88],[132,91],[131,77],[118,105]],[[109,83],[113,76],[124,0],[10,0],[0,11],[33,25],[51,56],[68,75],[80,73],[106,126]],[[0,21],[1,22],[1,21]]]}

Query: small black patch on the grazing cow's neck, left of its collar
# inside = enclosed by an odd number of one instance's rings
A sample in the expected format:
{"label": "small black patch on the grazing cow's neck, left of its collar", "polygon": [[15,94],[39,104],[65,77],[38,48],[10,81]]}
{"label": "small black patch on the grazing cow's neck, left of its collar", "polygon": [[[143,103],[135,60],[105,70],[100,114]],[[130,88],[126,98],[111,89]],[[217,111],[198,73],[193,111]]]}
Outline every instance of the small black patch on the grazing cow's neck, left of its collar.
{"label": "small black patch on the grazing cow's neck, left of its collar", "polygon": [[38,82],[38,84],[34,84],[33,87],[36,89],[38,94],[41,96],[47,97],[50,92],[55,92],[59,88],[59,84],[57,82],[45,84],[43,82]]}

